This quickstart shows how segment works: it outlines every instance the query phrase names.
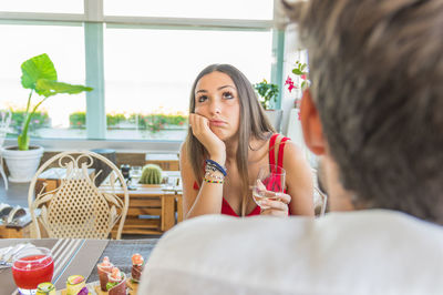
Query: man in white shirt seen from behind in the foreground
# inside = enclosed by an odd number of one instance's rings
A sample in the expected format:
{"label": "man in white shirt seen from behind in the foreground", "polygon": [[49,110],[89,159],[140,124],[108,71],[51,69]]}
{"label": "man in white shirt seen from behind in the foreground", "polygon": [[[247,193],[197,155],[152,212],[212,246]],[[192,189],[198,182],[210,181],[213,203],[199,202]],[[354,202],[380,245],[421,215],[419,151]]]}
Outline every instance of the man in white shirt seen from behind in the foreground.
{"label": "man in white shirt seen from behind in the foreground", "polygon": [[336,212],[184,222],[141,289],[443,294],[443,1],[285,4],[309,53],[303,136]]}

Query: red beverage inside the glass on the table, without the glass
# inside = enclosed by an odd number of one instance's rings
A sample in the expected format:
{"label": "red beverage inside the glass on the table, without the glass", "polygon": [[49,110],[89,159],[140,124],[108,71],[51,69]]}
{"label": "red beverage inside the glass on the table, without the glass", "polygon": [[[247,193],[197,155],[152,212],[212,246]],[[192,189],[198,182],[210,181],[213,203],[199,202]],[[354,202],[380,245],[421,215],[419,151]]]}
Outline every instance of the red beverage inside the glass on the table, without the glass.
{"label": "red beverage inside the glass on the table, without the glass", "polygon": [[29,255],[14,261],[12,276],[16,285],[23,289],[34,289],[40,283],[51,282],[54,262],[49,255]]}

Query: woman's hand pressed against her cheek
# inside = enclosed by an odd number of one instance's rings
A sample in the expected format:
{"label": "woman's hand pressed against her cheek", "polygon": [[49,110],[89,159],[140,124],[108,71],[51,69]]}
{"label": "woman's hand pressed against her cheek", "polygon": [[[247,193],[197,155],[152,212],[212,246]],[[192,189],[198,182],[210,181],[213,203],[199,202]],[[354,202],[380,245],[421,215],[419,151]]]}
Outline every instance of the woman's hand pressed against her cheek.
{"label": "woman's hand pressed against her cheek", "polygon": [[225,165],[226,146],[225,143],[209,128],[209,120],[205,116],[192,113],[189,114],[189,126],[193,130],[194,136],[208,151],[210,159]]}

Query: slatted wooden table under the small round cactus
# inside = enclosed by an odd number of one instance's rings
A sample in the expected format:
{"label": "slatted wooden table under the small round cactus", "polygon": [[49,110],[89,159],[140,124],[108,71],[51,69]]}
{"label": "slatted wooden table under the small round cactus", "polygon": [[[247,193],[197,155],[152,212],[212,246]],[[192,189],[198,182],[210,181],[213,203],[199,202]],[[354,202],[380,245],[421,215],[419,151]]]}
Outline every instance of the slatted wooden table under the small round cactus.
{"label": "slatted wooden table under the small round cactus", "polygon": [[[168,172],[164,173],[168,174]],[[176,172],[169,174],[175,175]],[[131,186],[135,190],[128,191],[130,204],[123,234],[158,235],[183,221],[181,186],[171,187],[166,184],[133,184]],[[99,190],[123,197],[123,190],[115,187],[113,191],[106,181]]]}

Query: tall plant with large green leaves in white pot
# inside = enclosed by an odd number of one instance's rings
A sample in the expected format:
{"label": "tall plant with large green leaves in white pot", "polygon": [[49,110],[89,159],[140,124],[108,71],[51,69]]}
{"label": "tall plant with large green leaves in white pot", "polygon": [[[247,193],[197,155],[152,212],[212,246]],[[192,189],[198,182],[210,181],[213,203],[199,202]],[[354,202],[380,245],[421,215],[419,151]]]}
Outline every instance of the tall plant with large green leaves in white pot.
{"label": "tall plant with large green leaves in white pot", "polygon": [[[21,64],[21,84],[24,89],[30,89],[28,98],[27,111],[21,133],[17,139],[17,146],[2,148],[2,156],[4,157],[10,173],[11,182],[29,182],[34,175],[40,159],[43,155],[43,148],[29,145],[29,126],[32,116],[38,108],[50,96],[59,93],[75,94],[83,91],[91,91],[92,88],[83,85],[73,85],[58,81],[56,70],[47,53],[33,57]],[[37,93],[41,96],[35,104],[32,103],[32,94]]]}

